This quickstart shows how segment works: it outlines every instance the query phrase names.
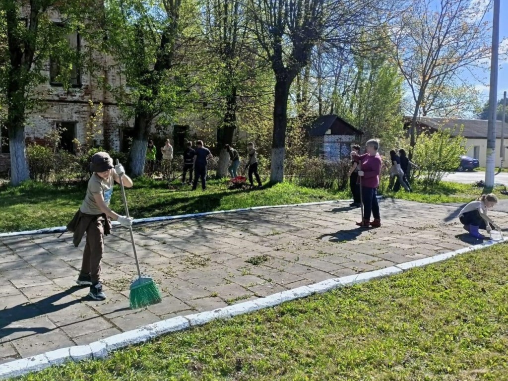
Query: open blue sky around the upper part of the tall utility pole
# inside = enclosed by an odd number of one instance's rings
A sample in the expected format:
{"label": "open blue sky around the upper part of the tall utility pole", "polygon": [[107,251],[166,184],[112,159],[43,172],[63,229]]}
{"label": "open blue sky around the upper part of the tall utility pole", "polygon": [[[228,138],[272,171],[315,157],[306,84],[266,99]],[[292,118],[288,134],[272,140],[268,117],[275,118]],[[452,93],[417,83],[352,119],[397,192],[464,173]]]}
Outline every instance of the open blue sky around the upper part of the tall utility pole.
{"label": "open blue sky around the upper part of the tall utility pole", "polygon": [[[485,1],[485,3],[489,3]],[[499,41],[502,42],[503,47],[508,47],[508,0],[500,1],[500,15],[499,15]],[[486,19],[492,22],[492,10],[487,14]],[[503,41],[503,39],[505,39]],[[490,61],[490,59],[489,59]],[[461,76],[465,81],[474,84],[475,87],[481,91],[482,102],[487,102],[489,99],[489,83],[490,72],[487,71],[479,75],[480,81],[474,78],[470,73],[464,72]],[[497,99],[502,99],[503,91],[508,91],[508,58],[506,56],[499,57],[499,72],[497,80]]]}

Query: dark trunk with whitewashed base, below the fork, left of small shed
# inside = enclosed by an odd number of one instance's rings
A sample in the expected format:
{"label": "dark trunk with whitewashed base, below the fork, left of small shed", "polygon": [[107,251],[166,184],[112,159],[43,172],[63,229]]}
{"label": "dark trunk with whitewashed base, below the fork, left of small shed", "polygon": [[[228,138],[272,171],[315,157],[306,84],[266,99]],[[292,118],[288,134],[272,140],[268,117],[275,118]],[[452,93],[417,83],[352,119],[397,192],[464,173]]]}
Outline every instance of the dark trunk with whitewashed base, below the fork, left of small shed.
{"label": "dark trunk with whitewashed base, below the fork, left of small shed", "polygon": [[273,138],[270,183],[284,181],[285,134],[288,126],[288,97],[290,81],[275,82],[275,102],[273,108]]}

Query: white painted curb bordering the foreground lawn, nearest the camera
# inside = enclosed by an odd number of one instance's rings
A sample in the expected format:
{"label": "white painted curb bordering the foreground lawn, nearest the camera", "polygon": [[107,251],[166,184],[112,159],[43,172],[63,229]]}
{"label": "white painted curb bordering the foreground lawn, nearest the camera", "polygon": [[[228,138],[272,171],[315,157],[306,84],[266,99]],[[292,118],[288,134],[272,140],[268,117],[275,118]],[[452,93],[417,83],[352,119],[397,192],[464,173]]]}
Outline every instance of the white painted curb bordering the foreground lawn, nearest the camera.
{"label": "white painted curb bordering the foreground lawn, nearest the camera", "polygon": [[483,249],[501,242],[508,242],[508,237],[504,238],[504,240],[487,241],[434,257],[401,263],[385,269],[343,276],[341,278],[327,279],[319,283],[283,291],[265,298],[249,300],[247,302],[234,304],[228,307],[218,308],[213,311],[193,313],[186,316],[176,316],[161,322],[139,327],[138,329],[132,331],[122,332],[106,339],[94,341],[88,345],[61,348],[56,351],[43,353],[42,355],[0,364],[0,379],[40,371],[52,365],[60,365],[68,361],[78,362],[88,359],[104,359],[113,351],[117,351],[130,345],[144,343],[167,333],[183,331],[187,328],[201,326],[217,319],[229,319],[230,317],[236,315],[257,311],[267,307],[273,307],[281,303],[301,299],[312,294],[324,293],[340,287],[347,287],[353,284],[367,282],[375,278],[400,274],[412,268],[441,262],[457,255]]}

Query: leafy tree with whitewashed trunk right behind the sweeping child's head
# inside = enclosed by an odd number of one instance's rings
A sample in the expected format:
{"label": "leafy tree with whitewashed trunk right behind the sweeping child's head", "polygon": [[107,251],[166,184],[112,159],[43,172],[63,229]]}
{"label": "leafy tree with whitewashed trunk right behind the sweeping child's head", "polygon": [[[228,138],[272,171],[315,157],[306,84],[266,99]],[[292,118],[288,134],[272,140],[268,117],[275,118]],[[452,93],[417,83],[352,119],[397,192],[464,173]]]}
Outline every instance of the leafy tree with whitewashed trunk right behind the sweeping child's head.
{"label": "leafy tree with whitewashed trunk right behind the sweeping child's head", "polygon": [[193,68],[201,60],[194,41],[199,34],[192,0],[112,0],[106,3],[103,51],[125,81],[110,90],[127,119],[134,118],[129,164],[133,176],[144,173],[152,126],[171,124],[180,108],[196,100]]}

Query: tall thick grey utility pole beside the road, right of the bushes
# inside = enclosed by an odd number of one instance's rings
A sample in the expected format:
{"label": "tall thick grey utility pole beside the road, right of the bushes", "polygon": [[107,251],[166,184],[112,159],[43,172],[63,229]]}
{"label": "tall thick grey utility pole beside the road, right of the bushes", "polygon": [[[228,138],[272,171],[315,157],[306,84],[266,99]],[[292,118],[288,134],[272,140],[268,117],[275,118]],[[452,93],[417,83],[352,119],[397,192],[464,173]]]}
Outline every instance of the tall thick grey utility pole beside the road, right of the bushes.
{"label": "tall thick grey utility pole beside the road, right of the bushes", "polygon": [[492,56],[490,60],[489,123],[487,125],[487,165],[485,187],[494,187],[494,167],[496,164],[496,104],[497,104],[497,66],[499,55],[499,3],[494,0],[492,21]]}

